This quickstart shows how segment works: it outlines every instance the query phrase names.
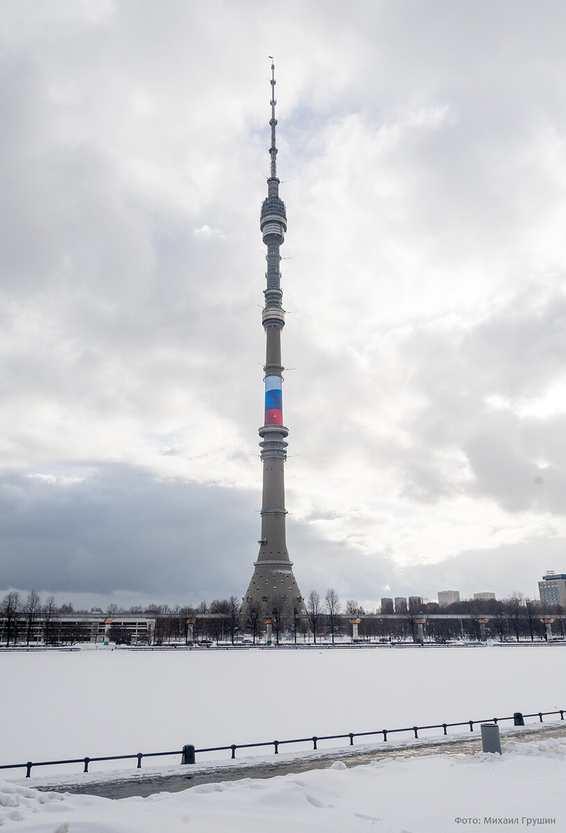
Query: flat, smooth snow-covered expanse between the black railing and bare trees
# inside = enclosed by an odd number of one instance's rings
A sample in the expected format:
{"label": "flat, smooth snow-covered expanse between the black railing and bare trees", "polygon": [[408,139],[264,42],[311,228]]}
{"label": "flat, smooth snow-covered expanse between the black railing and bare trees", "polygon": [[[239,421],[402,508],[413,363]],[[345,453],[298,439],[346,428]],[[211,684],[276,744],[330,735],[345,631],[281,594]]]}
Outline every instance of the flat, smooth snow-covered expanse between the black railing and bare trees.
{"label": "flat, smooth snow-covered expanse between the black railing and bare trees", "polygon": [[[479,720],[514,711],[555,711],[566,707],[565,650],[493,646],[2,651],[0,763],[172,751],[188,743],[197,748],[224,746]],[[336,746],[336,741],[326,746]],[[311,748],[306,744],[285,751]],[[215,756],[226,760],[227,754]],[[150,762],[178,761],[146,761]],[[117,761],[97,763],[91,771],[117,766]],[[57,775],[77,770],[80,766],[51,769]],[[48,771],[38,768],[33,775]],[[0,777],[22,774],[0,771]]]}

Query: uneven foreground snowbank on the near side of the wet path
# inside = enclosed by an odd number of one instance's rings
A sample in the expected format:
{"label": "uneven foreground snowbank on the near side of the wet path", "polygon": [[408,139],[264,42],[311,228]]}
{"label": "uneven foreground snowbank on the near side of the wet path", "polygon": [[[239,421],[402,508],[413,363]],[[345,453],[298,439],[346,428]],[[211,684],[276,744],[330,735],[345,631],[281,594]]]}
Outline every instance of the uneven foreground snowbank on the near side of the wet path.
{"label": "uneven foreground snowbank on the near side of the wet path", "polygon": [[112,801],[0,782],[0,826],[33,833],[564,831],[566,741],[375,761]]}

